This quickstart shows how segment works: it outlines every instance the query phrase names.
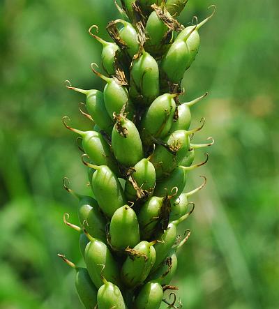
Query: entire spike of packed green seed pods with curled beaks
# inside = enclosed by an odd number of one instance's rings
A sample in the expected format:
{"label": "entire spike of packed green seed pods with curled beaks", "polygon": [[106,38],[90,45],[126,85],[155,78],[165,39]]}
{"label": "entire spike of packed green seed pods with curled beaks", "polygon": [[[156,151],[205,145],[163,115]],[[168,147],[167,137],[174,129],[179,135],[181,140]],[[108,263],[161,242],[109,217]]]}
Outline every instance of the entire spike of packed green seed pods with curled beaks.
{"label": "entire spike of packed green seed pods with curled beaks", "polygon": [[[202,130],[191,126],[191,107],[206,96],[180,102],[181,80],[195,60],[199,33],[213,13],[202,22],[183,27],[175,18],[187,0],[121,0],[122,18],[107,25],[112,42],[89,33],[103,45],[100,73],[103,91],[83,90],[83,112],[93,121],[88,131],[69,126],[80,135],[88,168],[91,196],[64,187],[79,200],[80,226],[66,225],[80,232],[80,251],[86,268],[78,268],[76,287],[85,308],[156,309],[164,298],[177,268],[176,251],[186,243],[177,234],[178,225],[193,212],[188,197],[203,188],[188,190],[188,172],[204,165],[193,163],[195,150],[211,146],[193,143]],[[126,20],[124,20],[126,19]]]}

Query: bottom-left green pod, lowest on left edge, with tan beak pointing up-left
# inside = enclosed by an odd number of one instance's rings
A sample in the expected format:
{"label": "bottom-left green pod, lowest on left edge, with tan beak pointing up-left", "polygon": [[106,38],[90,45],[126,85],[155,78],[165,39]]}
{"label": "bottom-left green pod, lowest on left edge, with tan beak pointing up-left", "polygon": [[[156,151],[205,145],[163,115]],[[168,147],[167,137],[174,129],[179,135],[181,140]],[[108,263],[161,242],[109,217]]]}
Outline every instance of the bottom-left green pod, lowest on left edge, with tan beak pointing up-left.
{"label": "bottom-left green pod, lowest on left edge, with tan beak pointing up-left", "polygon": [[97,289],[93,285],[87,269],[75,266],[64,255],[59,254],[58,256],[77,272],[75,276],[75,288],[77,289],[81,303],[86,309],[94,308],[97,305]]}

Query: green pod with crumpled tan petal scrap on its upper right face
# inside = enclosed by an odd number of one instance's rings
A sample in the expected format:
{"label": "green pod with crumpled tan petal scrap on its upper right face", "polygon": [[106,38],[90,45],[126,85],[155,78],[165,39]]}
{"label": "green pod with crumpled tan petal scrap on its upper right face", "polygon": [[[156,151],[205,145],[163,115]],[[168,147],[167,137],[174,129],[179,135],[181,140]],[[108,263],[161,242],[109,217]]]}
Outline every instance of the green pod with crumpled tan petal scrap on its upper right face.
{"label": "green pod with crumpled tan petal scrap on its upper right face", "polygon": [[164,146],[157,145],[151,156],[151,162],[156,169],[156,178],[168,176],[176,166],[180,165],[190,147],[188,131],[177,130],[165,138],[164,142],[168,146],[176,147],[176,153],[170,153]]}

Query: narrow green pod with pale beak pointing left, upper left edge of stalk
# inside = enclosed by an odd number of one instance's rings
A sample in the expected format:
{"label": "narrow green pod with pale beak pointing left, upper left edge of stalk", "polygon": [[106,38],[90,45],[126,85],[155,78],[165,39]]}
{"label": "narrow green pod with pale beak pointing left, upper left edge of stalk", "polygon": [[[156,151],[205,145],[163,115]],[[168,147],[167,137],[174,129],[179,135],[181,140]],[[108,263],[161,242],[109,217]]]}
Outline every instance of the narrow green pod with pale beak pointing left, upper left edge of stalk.
{"label": "narrow green pod with pale beak pointing left, upper left edge of stalk", "polygon": [[113,122],[112,119],[110,119],[109,114],[107,114],[103,93],[95,89],[84,90],[68,85],[66,87],[68,89],[73,89],[77,92],[85,94],[86,109],[88,110],[93,121],[98,125],[101,130],[104,130],[105,133],[110,135],[112,133]]}

